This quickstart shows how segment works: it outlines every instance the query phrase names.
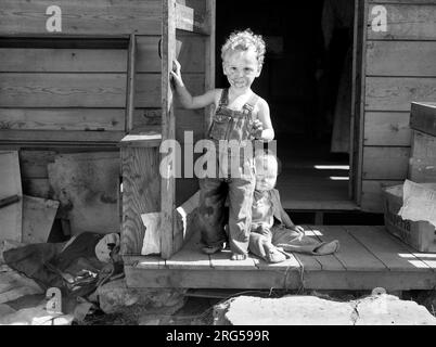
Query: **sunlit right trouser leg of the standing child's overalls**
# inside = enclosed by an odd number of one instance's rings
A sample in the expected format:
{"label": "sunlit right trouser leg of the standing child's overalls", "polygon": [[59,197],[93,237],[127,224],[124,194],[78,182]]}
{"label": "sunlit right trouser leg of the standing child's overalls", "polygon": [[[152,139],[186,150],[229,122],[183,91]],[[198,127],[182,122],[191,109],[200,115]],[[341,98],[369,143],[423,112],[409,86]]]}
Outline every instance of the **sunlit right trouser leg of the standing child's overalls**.
{"label": "sunlit right trouser leg of the standing child's overalls", "polygon": [[232,253],[248,253],[254,180],[233,178],[229,182],[229,239]]}

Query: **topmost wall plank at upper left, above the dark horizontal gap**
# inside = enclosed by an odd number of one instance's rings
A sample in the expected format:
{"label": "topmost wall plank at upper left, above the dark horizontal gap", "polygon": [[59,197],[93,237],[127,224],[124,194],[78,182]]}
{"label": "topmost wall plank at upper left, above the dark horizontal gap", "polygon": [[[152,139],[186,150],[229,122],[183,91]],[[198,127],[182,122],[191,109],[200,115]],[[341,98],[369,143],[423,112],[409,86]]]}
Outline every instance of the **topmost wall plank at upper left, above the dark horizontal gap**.
{"label": "topmost wall plank at upper left, above the dark horizontal gap", "polygon": [[[50,33],[46,14],[50,5],[62,14],[61,31]],[[162,0],[81,0],[27,1],[2,0],[0,35],[161,35]]]}

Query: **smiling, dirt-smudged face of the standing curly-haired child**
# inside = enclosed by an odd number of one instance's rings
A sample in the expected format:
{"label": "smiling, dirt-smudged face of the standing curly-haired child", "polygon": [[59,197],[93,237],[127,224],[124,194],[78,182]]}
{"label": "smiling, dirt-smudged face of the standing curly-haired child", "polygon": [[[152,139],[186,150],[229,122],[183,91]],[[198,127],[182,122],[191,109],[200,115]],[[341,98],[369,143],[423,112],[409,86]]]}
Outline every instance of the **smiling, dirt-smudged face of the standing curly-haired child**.
{"label": "smiling, dirt-smudged face of the standing curly-haired child", "polygon": [[260,76],[261,72],[254,49],[246,51],[229,50],[225,55],[222,69],[230,86],[238,90],[251,88],[253,81]]}

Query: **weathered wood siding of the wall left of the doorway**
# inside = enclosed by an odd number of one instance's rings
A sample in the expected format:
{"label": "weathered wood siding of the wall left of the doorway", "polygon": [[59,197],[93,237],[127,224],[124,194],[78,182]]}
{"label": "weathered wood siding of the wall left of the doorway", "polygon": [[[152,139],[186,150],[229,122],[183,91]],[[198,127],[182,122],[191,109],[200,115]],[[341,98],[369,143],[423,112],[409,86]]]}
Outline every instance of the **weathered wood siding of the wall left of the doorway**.
{"label": "weathered wood siding of the wall left of the doorway", "polygon": [[[24,194],[51,197],[47,164],[57,153],[119,151],[125,136],[129,35],[137,36],[133,130],[161,130],[162,0],[61,0],[62,31],[49,33],[52,1],[0,0],[0,147],[21,150]],[[205,11],[204,1],[187,5]],[[205,86],[204,36],[178,31],[193,94]],[[203,136],[204,112],[177,107],[176,138]],[[80,146],[78,146],[80,145]],[[98,146],[98,147],[95,147]],[[181,181],[181,180],[180,180]],[[177,203],[197,189],[177,184]]]}

